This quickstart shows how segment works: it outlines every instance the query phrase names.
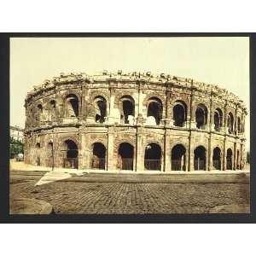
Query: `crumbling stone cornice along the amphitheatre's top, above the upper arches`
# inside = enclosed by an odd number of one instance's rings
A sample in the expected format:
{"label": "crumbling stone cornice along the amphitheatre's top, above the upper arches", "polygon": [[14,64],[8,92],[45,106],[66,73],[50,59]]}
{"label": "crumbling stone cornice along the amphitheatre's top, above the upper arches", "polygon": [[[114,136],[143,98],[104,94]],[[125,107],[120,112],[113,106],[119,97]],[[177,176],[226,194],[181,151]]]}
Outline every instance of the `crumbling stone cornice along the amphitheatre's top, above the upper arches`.
{"label": "crumbling stone cornice along the amphitheatre's top, above the upper arches", "polygon": [[172,76],[170,74],[160,73],[157,75],[153,75],[151,73],[108,73],[104,71],[95,75],[87,75],[86,73],[69,73],[64,74],[61,73],[59,77],[55,77],[51,80],[44,80],[42,84],[38,86],[34,86],[34,89],[30,91],[26,96],[26,102],[32,97],[37,96],[38,94],[44,92],[45,90],[53,90],[56,86],[62,84],[77,84],[77,83],[88,83],[88,84],[97,84],[97,83],[109,83],[112,82],[143,82],[145,84],[157,84],[159,86],[168,87],[180,87],[180,88],[188,88],[189,90],[197,90],[201,93],[204,93],[208,96],[218,96],[222,97],[228,102],[232,102],[238,107],[242,108],[245,113],[247,113],[247,108],[244,102],[239,99],[238,96],[229,92],[228,90],[222,89],[218,87],[216,84],[206,84],[199,81],[195,81],[195,79],[186,79],[180,78],[177,76]]}

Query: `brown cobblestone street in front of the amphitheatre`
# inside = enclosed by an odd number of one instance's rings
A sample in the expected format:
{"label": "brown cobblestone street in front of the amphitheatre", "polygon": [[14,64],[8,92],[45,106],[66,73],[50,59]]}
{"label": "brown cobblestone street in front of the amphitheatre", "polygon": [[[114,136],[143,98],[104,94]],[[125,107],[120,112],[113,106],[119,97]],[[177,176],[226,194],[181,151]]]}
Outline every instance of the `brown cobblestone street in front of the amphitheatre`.
{"label": "brown cobblestone street in front of the amphitheatre", "polygon": [[[207,213],[249,205],[248,183],[90,183],[72,178],[34,186],[42,173],[10,176],[10,201],[44,200],[55,213]],[[79,177],[78,177],[79,178]]]}

